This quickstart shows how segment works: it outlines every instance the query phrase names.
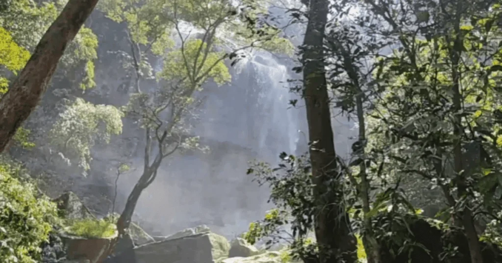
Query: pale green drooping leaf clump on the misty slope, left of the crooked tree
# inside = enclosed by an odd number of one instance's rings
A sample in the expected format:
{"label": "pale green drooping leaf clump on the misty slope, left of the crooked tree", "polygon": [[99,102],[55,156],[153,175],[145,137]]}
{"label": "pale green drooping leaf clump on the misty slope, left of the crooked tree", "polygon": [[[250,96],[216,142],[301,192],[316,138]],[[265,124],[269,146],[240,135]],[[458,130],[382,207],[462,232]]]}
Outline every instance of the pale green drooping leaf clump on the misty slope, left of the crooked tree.
{"label": "pale green drooping leaf clump on the misty slope, left of the crooked tree", "polygon": [[50,131],[52,145],[67,157],[78,158],[79,166],[88,170],[91,147],[97,139],[108,143],[111,135],[120,134],[122,117],[113,106],[93,105],[77,99]]}

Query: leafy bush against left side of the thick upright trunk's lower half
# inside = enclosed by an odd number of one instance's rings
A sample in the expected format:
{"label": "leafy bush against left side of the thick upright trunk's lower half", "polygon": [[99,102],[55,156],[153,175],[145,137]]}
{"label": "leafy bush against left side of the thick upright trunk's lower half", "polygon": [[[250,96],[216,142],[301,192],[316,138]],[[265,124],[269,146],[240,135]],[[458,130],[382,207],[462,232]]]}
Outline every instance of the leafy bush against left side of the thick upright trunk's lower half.
{"label": "leafy bush against left side of the thick upright trunk's lower half", "polygon": [[267,245],[288,242],[293,259],[316,258],[317,246],[309,237],[315,213],[310,161],[305,155],[297,158],[284,152],[280,157],[282,161],[277,168],[254,162],[247,170],[248,174],[255,174],[260,185],[270,185],[270,201],[277,209],[269,211],[263,220],[251,223],[245,238],[252,244],[259,239],[267,240]]}

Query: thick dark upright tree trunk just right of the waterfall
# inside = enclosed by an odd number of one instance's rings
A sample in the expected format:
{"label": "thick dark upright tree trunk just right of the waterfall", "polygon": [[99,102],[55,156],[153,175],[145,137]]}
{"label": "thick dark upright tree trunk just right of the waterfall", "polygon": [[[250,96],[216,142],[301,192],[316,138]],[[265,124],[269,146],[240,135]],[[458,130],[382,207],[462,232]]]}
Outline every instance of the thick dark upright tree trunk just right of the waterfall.
{"label": "thick dark upright tree trunk just right of the waterfall", "polygon": [[317,207],[315,234],[321,263],[356,259],[356,241],[341,195],[341,177],[331,128],[330,104],[324,68],[324,32],[328,0],[310,0],[304,39],[304,98],[309,128],[310,159]]}

